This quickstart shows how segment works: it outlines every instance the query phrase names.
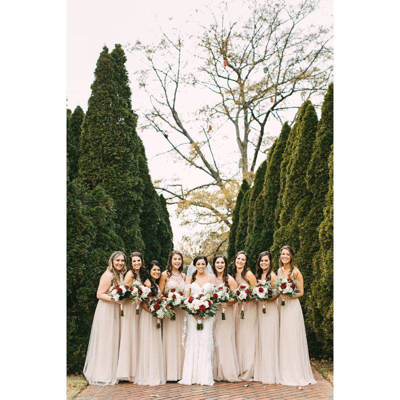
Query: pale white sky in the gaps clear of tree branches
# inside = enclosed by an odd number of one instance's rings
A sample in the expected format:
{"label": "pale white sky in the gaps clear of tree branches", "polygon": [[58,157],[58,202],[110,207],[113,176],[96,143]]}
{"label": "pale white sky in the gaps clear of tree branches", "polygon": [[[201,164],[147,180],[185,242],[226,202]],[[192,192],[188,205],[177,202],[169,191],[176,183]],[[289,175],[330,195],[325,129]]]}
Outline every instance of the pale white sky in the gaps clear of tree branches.
{"label": "pale white sky in the gaps clear of tree branches", "polygon": [[[191,21],[190,15],[201,23],[209,23],[209,14],[204,11],[206,5],[214,7],[217,1],[197,0],[195,3],[182,1],[133,1],[133,0],[68,0],[67,1],[67,107],[74,109],[80,105],[84,111],[87,108],[87,100],[90,96],[90,84],[94,76],[95,63],[101,48],[104,44],[111,50],[115,43],[125,45],[134,43],[137,39],[143,43],[156,42],[160,38],[159,26],[166,32],[172,28],[178,28],[186,33],[196,33],[197,26]],[[237,3],[235,10],[243,13],[243,1],[233,0],[230,5]],[[196,12],[195,10],[199,12]],[[313,14],[314,24],[330,25],[332,23],[332,0],[321,0],[318,9]],[[126,68],[131,80],[132,106],[138,112],[140,125],[140,109],[148,104],[147,94],[139,89],[136,81],[135,71],[143,67],[140,58],[126,52]],[[193,88],[186,92],[184,101],[185,111],[188,115],[195,112],[198,106],[207,102],[209,91]],[[187,117],[186,114],[186,117]],[[143,121],[141,121],[143,122]],[[227,135],[230,126],[221,127],[222,136]],[[226,130],[226,131],[225,131]],[[277,135],[280,131],[280,124],[272,121],[267,134]],[[168,143],[157,132],[150,130],[141,131],[137,129],[142,138],[150,174],[153,180],[171,177],[179,178],[183,184],[193,181],[201,182],[204,179],[202,174],[193,171],[180,162],[172,159],[171,155],[156,154],[169,149]],[[222,137],[220,136],[220,137]],[[235,152],[235,141],[221,139],[224,151],[221,157],[229,160],[229,168],[237,168],[238,154]],[[258,164],[262,157],[258,157]],[[171,225],[175,245],[182,234],[188,233],[193,227],[179,226],[179,220],[175,216],[174,206],[168,206],[171,217]]]}

